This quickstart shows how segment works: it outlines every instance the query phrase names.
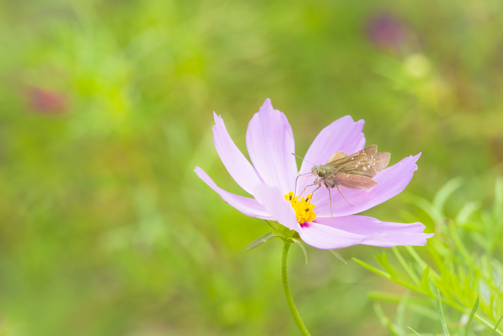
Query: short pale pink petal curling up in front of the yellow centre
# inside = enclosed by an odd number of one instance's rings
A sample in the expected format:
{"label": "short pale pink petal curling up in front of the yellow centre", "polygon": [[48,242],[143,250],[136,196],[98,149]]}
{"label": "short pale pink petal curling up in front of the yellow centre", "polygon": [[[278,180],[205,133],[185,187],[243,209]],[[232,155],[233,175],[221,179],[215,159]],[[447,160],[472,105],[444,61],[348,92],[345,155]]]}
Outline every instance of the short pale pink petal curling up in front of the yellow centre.
{"label": "short pale pink petal curling up in front of the yellow centre", "polygon": [[280,224],[288,227],[290,230],[299,232],[300,225],[297,222],[295,210],[292,208],[290,202],[285,200],[283,193],[278,187],[263,184],[255,188],[254,195],[257,195],[264,202],[267,212],[276,218]]}

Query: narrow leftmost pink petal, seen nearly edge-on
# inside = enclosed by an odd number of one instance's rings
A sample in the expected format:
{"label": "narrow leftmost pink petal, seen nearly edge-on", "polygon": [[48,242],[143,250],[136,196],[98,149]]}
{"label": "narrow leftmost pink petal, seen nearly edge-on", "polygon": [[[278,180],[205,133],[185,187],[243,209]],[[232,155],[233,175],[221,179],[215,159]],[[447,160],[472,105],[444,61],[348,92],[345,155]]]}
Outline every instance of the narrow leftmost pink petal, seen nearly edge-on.
{"label": "narrow leftmost pink petal, seen nearly edge-on", "polygon": [[253,198],[243,197],[231,194],[221,188],[219,188],[215,182],[204,172],[200,167],[196,167],[194,172],[203,180],[211,189],[217,192],[218,195],[230,206],[241,211],[246,216],[258,217],[262,219],[276,220],[273,216],[267,212],[266,208],[254,200]]}

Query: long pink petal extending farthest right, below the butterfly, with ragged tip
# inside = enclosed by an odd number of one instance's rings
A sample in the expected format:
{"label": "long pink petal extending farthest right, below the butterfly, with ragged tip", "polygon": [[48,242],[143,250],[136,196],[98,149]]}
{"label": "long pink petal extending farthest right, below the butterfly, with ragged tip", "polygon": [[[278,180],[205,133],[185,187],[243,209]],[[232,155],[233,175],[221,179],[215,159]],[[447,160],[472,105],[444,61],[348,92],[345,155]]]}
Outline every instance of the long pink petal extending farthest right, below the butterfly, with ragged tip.
{"label": "long pink petal extending farthest right, below the butterfly, with ragged tip", "polygon": [[434,233],[424,233],[425,225],[421,223],[383,222],[367,216],[316,218],[316,222],[333,229],[365,236],[361,244],[381,247],[424,246],[426,239],[434,235]]}

